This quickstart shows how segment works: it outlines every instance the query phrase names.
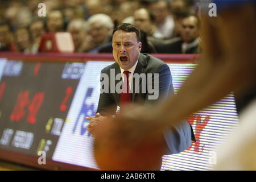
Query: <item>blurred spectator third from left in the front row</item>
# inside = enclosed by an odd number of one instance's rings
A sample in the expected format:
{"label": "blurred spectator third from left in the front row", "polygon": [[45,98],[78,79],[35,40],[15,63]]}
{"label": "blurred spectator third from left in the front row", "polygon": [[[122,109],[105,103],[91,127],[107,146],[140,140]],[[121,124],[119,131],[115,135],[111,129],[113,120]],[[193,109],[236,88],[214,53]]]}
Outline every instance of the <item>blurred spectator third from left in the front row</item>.
{"label": "blurred spectator third from left in the front row", "polygon": [[44,33],[46,33],[46,26],[45,26],[44,19],[36,18],[32,20],[29,26],[29,30],[30,30],[31,40],[32,40],[30,52],[37,53],[39,43],[40,43],[40,38]]}

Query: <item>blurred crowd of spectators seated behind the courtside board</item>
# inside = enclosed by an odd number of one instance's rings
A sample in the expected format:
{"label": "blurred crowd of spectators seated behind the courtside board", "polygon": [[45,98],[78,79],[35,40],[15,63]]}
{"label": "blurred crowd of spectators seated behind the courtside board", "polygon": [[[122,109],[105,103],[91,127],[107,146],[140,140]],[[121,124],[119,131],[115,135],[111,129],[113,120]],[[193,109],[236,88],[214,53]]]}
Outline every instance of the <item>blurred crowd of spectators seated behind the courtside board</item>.
{"label": "blurred crowd of spectators seated behind the courtside board", "polygon": [[[141,30],[142,52],[199,53],[195,0],[0,0],[0,51],[37,53],[47,32],[69,32],[75,52],[112,52],[119,23]],[[39,3],[46,17],[39,17]]]}

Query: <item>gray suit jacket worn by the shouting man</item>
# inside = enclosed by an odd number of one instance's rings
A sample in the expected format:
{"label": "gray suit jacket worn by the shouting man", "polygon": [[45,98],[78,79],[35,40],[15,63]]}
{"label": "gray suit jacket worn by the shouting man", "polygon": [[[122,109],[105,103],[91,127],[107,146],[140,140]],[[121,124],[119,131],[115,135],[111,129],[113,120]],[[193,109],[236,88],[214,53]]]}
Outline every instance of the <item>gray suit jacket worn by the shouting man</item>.
{"label": "gray suit jacket worn by the shouting man", "polygon": [[[119,65],[114,63],[108,67],[102,69],[101,73],[106,73],[110,77],[110,69],[114,69],[115,75],[121,73]],[[169,94],[174,94],[174,89],[172,85],[172,76],[170,68],[162,60],[148,55],[146,53],[140,53],[137,67],[135,68],[134,74],[138,73],[152,73],[152,85],[154,85],[154,73],[159,74],[159,88],[156,89],[159,92],[159,97],[156,100],[151,100],[150,96],[154,93],[135,93],[134,81],[132,89],[132,101],[139,104],[150,104],[154,106],[156,102],[164,100],[169,96]],[[122,80],[122,78],[121,78]],[[115,80],[115,85],[118,84],[120,80]],[[146,83],[147,84],[147,83]],[[157,84],[156,84],[157,85]],[[112,85],[113,86],[113,85]],[[139,82],[139,89],[141,90],[142,80]],[[100,100],[98,102],[97,113],[101,115],[113,115],[117,110],[117,106],[120,104],[120,94],[110,93],[110,80],[109,80],[109,92],[101,93]],[[102,88],[104,89],[104,88]],[[148,91],[148,90],[147,90]],[[166,131],[163,131],[164,139],[167,144],[166,154],[177,154],[181,151],[184,151],[191,145],[191,139],[195,139],[193,135],[193,130],[191,125],[187,121],[181,122],[179,125],[176,125]]]}

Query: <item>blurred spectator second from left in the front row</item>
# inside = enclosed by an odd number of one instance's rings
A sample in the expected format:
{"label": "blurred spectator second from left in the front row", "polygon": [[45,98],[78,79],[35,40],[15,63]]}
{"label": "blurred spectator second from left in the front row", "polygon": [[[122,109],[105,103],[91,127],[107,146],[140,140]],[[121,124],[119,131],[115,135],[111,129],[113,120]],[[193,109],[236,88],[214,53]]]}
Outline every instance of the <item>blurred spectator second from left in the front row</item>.
{"label": "blurred spectator second from left in the front row", "polygon": [[18,27],[14,32],[14,40],[18,52],[30,52],[31,39],[27,27]]}

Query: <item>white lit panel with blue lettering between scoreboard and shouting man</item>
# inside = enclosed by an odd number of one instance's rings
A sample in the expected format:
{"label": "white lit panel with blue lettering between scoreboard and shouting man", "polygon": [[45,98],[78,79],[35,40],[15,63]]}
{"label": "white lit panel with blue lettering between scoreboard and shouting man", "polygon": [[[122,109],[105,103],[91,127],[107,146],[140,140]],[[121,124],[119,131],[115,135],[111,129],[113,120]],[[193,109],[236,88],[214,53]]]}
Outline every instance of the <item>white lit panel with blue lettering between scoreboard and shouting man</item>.
{"label": "white lit panel with blue lettering between scoreboard and shouting man", "polygon": [[53,160],[97,168],[93,158],[93,138],[86,127],[86,116],[96,113],[100,97],[101,69],[113,62],[88,61],[81,76]]}

